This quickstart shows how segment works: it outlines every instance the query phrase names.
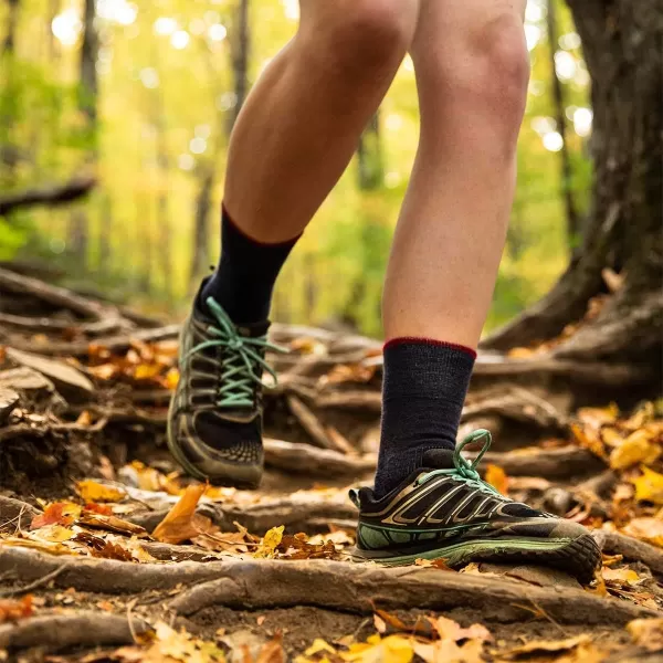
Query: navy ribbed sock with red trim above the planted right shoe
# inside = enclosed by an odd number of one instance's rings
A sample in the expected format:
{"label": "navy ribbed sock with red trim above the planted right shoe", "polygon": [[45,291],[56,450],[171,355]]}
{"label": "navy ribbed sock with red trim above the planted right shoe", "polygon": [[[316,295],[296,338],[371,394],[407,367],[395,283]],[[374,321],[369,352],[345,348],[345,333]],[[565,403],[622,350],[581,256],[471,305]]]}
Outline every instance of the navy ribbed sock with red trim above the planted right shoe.
{"label": "navy ribbed sock with red trim above the planted right shoe", "polygon": [[471,348],[425,338],[385,345],[378,498],[421,467],[428,450],[454,449],[475,358]]}

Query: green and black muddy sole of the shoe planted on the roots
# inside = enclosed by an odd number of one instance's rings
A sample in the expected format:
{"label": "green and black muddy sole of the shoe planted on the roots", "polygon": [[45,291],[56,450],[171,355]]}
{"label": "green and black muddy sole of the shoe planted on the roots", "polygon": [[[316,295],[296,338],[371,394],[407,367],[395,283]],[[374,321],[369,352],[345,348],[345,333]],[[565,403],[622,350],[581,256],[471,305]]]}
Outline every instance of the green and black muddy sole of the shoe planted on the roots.
{"label": "green and black muddy sole of the shoe planted on the roots", "polygon": [[383,550],[355,548],[354,561],[376,561],[387,566],[407,566],[417,559],[444,559],[451,568],[463,567],[471,561],[526,561],[557,568],[589,585],[601,560],[601,551],[587,534],[575,539],[491,539],[470,540],[445,548],[435,548],[417,555],[390,555]]}

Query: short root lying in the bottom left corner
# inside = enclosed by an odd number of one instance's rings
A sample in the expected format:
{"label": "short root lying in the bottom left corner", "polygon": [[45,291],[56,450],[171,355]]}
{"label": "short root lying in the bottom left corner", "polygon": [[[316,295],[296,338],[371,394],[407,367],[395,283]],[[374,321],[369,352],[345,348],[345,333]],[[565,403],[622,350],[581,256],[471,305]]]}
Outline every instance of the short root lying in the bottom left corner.
{"label": "short root lying in the bottom left corner", "polygon": [[130,644],[134,633],[149,630],[140,619],[84,610],[71,614],[44,614],[0,627],[0,648],[43,648],[56,651],[70,646]]}

